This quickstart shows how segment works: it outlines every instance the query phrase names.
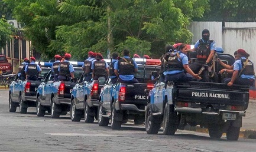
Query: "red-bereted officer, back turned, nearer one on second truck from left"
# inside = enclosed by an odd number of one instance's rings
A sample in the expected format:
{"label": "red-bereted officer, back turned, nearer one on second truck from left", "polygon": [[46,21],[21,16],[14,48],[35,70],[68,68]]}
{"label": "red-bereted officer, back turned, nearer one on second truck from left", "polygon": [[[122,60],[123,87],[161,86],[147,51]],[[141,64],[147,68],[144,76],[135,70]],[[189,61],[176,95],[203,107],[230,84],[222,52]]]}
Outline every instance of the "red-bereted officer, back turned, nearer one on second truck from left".
{"label": "red-bereted officer, back turned, nearer one on second truck from left", "polygon": [[74,78],[74,67],[73,65],[69,62],[71,58],[71,54],[66,53],[64,55],[65,60],[63,62],[60,62],[58,71],[60,72],[59,75],[59,80],[60,81],[69,81],[70,77]]}

